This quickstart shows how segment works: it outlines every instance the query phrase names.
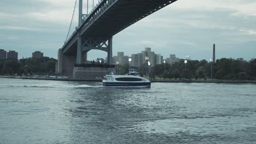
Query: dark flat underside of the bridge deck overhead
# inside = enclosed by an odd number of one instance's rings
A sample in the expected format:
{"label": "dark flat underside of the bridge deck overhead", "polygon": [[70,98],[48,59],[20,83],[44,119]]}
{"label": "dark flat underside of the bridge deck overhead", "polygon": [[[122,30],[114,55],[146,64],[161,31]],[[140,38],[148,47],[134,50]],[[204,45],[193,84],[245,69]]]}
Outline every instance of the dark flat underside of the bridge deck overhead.
{"label": "dark flat underside of the bridge deck overhead", "polygon": [[[175,1],[118,0],[82,33],[82,37],[97,37],[107,40],[126,27]],[[76,52],[76,46],[77,42],[69,47],[67,52]],[[72,48],[73,50],[71,50]]]}

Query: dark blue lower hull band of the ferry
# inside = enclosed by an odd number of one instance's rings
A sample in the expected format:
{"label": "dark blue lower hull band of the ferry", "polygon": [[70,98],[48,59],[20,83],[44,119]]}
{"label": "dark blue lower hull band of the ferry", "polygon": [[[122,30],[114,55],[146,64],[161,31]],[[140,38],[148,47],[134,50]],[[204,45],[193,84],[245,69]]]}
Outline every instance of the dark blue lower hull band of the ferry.
{"label": "dark blue lower hull band of the ferry", "polygon": [[150,87],[150,82],[103,82],[105,87]]}

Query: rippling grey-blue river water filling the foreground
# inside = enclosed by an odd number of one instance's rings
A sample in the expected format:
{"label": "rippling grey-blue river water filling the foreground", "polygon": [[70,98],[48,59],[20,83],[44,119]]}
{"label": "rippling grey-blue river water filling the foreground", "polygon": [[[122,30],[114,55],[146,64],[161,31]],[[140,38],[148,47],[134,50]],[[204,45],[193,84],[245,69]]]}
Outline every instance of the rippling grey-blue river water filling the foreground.
{"label": "rippling grey-blue river water filling the foreground", "polygon": [[256,85],[0,79],[0,143],[256,143]]}

